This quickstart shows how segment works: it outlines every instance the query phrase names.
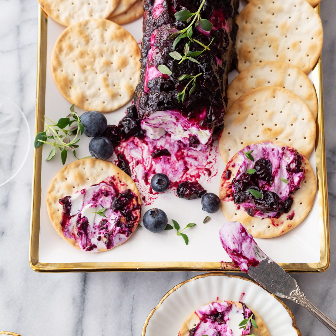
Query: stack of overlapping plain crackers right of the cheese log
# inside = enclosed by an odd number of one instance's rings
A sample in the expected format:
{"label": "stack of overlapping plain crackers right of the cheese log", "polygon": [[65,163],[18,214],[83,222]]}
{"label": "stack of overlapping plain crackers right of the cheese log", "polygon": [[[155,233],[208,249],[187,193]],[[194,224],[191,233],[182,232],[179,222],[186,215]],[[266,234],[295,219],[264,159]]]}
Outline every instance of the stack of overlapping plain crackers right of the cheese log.
{"label": "stack of overlapping plain crackers right of the cheese log", "polygon": [[321,54],[319,14],[305,0],[250,0],[237,23],[240,74],[228,88],[219,141],[225,164],[260,140],[281,141],[309,157],[318,101],[307,74]]}

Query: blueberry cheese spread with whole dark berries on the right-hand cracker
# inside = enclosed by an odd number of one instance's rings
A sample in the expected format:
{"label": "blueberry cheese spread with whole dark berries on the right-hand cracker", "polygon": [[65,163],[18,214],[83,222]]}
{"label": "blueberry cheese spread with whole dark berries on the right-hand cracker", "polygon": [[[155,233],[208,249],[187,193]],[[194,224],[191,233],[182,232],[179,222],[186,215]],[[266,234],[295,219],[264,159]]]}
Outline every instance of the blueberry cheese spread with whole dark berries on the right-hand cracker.
{"label": "blueberry cheese spread with whole dark berries on the right-hand cracker", "polygon": [[[247,151],[253,151],[250,155],[255,161],[246,157]],[[250,216],[279,218],[288,213],[293,204],[291,194],[303,179],[301,155],[293,148],[267,141],[247,146],[239,154],[242,161],[231,185],[233,201]],[[225,179],[230,175],[230,169],[223,173]]]}

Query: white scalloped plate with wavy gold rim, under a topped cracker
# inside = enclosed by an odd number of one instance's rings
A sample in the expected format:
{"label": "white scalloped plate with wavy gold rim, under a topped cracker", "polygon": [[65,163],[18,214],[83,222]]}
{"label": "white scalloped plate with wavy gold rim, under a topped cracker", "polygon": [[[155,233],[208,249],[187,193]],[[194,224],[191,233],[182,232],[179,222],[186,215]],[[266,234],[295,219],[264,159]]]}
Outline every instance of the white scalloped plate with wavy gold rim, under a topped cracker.
{"label": "white scalloped plate with wavy gold rim, under a topped cracker", "polygon": [[282,301],[250,279],[224,273],[200,275],[172,288],[150,312],[142,336],[177,336],[189,314],[217,297],[246,303],[258,312],[271,336],[302,336]]}

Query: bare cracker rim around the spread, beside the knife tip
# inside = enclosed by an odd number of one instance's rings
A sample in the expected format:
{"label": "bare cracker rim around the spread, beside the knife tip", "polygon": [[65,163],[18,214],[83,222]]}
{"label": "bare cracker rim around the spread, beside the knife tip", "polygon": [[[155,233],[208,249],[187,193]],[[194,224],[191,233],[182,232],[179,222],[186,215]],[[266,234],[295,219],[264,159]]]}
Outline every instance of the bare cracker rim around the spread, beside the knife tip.
{"label": "bare cracker rim around the spread, beside the knife tip", "polygon": [[[257,141],[254,143],[260,142],[263,141]],[[284,143],[278,141],[268,142],[280,147],[285,146]],[[245,148],[245,146],[242,148]],[[261,219],[259,217],[249,216],[243,207],[237,209],[237,205],[232,200],[232,196],[230,196],[232,195],[232,186],[230,186],[230,184],[232,184],[232,180],[239,169],[239,156],[240,155],[236,153],[228,162],[220,181],[219,198],[221,200],[222,211],[226,219],[228,221],[234,220],[241,222],[248,229],[249,233],[256,238],[278,237],[299,225],[311,210],[316,196],[316,178],[307,158],[302,155],[302,168],[304,168],[305,175],[300,184],[300,189],[291,195],[294,202],[290,212],[283,213],[279,218],[268,217]],[[224,177],[226,170],[230,170],[232,172],[228,180]],[[293,213],[293,211],[294,217],[289,219],[288,216]]]}

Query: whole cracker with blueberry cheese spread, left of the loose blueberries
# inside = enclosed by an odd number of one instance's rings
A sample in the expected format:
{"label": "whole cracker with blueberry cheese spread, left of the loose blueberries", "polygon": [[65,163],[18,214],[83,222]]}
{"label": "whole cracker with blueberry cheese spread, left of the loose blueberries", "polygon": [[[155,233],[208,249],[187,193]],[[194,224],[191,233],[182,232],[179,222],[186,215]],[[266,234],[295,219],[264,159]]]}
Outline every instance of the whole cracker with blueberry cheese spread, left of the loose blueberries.
{"label": "whole cracker with blueberry cheese spread, left of the loose blueberries", "polygon": [[82,159],[62,168],[47,193],[49,218],[72,246],[108,251],[126,242],[141,214],[133,180],[111,162]]}

